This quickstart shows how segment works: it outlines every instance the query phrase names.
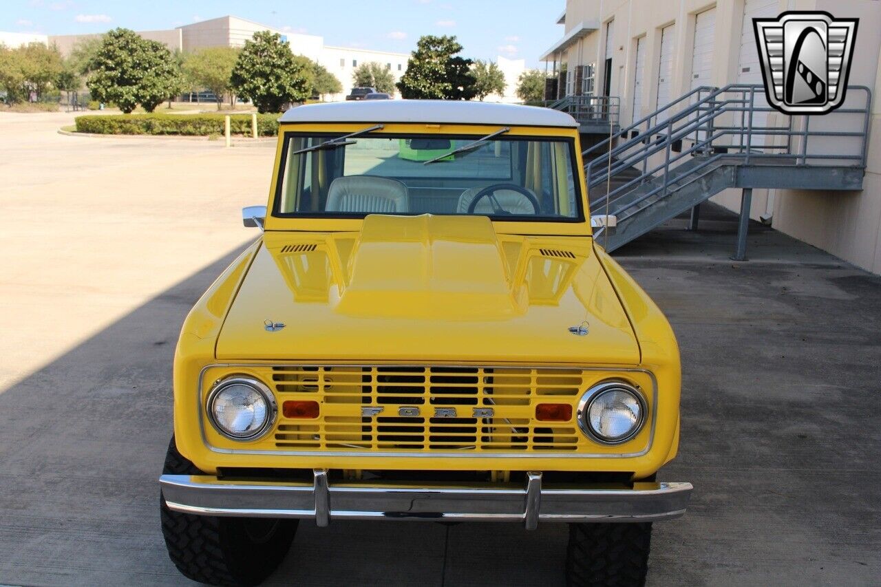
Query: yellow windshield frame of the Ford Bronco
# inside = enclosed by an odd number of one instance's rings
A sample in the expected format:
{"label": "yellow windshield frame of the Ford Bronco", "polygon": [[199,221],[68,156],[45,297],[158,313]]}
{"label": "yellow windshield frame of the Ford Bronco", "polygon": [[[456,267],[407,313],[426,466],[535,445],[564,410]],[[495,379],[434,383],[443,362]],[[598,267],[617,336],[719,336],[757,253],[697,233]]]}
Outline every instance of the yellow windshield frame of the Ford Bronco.
{"label": "yellow windshield frame of the Ford Bronco", "polygon": [[[285,173],[285,160],[293,136],[316,136],[338,138],[353,131],[363,129],[361,123],[294,123],[282,124],[278,133],[273,181],[270,187],[270,205],[267,216],[266,230],[298,230],[298,231],[358,231],[360,224],[370,214],[366,213],[326,213],[326,212],[280,212],[282,187]],[[381,122],[369,122],[379,124]],[[393,137],[406,138],[437,138],[474,140],[499,130],[498,125],[474,124],[432,124],[432,123],[383,123],[381,130],[375,130],[362,137]],[[576,129],[563,127],[526,127],[514,126],[500,137],[500,140],[535,140],[558,141],[566,145],[569,152],[569,164],[572,167],[574,187],[574,204],[577,214],[566,216],[534,216],[534,215],[485,215],[489,218],[496,231],[500,234],[544,234],[544,235],[581,235],[590,236],[592,230],[587,212],[587,194],[584,183],[584,170],[578,165],[579,136]],[[340,146],[339,148],[344,148]],[[430,166],[429,166],[430,167]],[[406,212],[395,215],[418,216],[423,212]],[[440,214],[435,214],[440,215]],[[450,216],[466,216],[449,214]],[[472,216],[472,215],[468,215]]]}

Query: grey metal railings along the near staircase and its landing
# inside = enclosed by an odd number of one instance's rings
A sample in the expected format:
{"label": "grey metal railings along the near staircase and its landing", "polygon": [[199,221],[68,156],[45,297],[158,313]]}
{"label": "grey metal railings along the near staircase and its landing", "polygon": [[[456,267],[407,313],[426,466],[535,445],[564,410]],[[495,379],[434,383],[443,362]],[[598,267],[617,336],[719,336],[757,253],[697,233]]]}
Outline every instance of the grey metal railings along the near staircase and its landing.
{"label": "grey metal railings along the near staircase and its landing", "polygon": [[[691,93],[686,95],[692,95],[693,93],[703,89],[709,88],[696,88]],[[855,164],[855,167],[865,167],[868,151],[867,147],[871,115],[870,88],[864,85],[848,86],[848,90],[862,91],[862,93],[865,94],[865,106],[863,108],[839,108],[835,111],[837,114],[842,115],[862,114],[862,131],[810,130],[809,123],[805,123],[804,130],[793,130],[791,117],[788,121],[787,126],[757,127],[753,124],[753,117],[756,112],[774,111],[774,108],[757,108],[755,106],[755,93],[764,92],[763,86],[732,84],[727,85],[724,88],[712,88],[712,90],[713,91],[709,93],[706,98],[703,98],[695,104],[692,104],[692,106],[690,106],[689,108],[685,108],[675,115],[671,115],[669,118],[665,119],[663,123],[655,123],[655,126],[652,127],[652,132],[647,133],[649,141],[647,145],[644,144],[647,140],[647,136],[634,137],[633,139],[626,141],[626,143],[624,143],[623,145],[618,145],[618,147],[616,147],[615,149],[611,149],[609,152],[603,153],[606,157],[611,158],[616,153],[625,152],[627,149],[633,148],[633,146],[635,145],[640,145],[640,143],[643,144],[643,146],[641,146],[638,151],[626,155],[625,158],[623,158],[622,160],[618,160],[613,166],[611,165],[611,161],[604,160],[603,165],[605,165],[606,167],[600,167],[601,172],[598,174],[598,176],[595,177],[593,171],[594,168],[597,167],[595,165],[596,161],[602,159],[602,156],[594,161],[591,161],[586,166],[590,187],[602,182],[606,177],[609,177],[610,175],[615,175],[623,169],[633,167],[634,164],[637,164],[640,161],[642,162],[642,172],[640,173],[640,175],[634,177],[629,182],[626,182],[622,185],[619,185],[615,189],[612,189],[602,198],[595,201],[595,209],[604,208],[607,205],[611,206],[611,204],[617,202],[622,197],[625,197],[627,194],[629,194],[629,192],[635,187],[637,183],[641,184],[647,181],[660,180],[657,186],[655,186],[653,189],[650,189],[645,194],[642,194],[639,198],[633,200],[633,202],[630,202],[625,206],[615,209],[616,214],[618,215],[618,221],[620,222],[624,219],[630,218],[638,211],[634,211],[629,214],[622,214],[622,212],[627,212],[631,210],[634,206],[638,206],[639,204],[645,202],[646,200],[648,200],[648,198],[653,197],[656,194],[662,193],[662,198],[668,196],[671,193],[670,187],[674,183],[679,183],[687,179],[685,183],[681,183],[681,185],[677,186],[677,190],[685,187],[685,185],[697,181],[698,179],[700,179],[700,177],[707,175],[708,173],[710,173],[710,171],[712,171],[712,169],[707,169],[705,173],[700,174],[701,170],[706,169],[707,167],[713,165],[716,161],[723,159],[740,160],[744,164],[749,163],[753,158],[761,158],[765,160],[786,159],[794,160],[795,165],[805,165],[807,164],[808,160],[818,159],[856,160],[858,162]],[[740,93],[741,97],[739,99],[734,99],[727,96],[722,96],[722,100],[716,100],[716,98],[722,95],[722,93]],[[681,99],[677,101],[681,101]],[[742,126],[740,127],[713,124],[716,119],[719,118],[719,116],[721,115],[738,112],[741,113]],[[643,118],[640,122],[648,121],[655,114],[656,113],[653,113],[653,115],[649,115]],[[677,126],[677,123],[680,123],[684,119],[685,123]],[[810,117],[808,117],[808,120],[810,120]],[[626,130],[622,130],[621,132],[623,133],[625,131]],[[701,132],[704,133],[703,138],[700,138]],[[672,155],[672,145],[679,140],[690,137],[692,133],[694,135],[694,139],[691,148],[688,148],[683,152],[678,152],[676,155]],[[662,135],[660,139],[652,140],[651,137],[659,134]],[[754,145],[752,140],[754,135],[762,135],[765,137],[785,136],[787,137],[787,142],[786,145]],[[730,142],[730,145],[720,145],[718,141],[722,137],[738,137],[739,143],[735,145],[735,141],[732,140]],[[800,145],[798,152],[793,152],[792,137],[802,137],[802,145]],[[808,137],[862,137],[861,152],[859,154],[851,155],[840,154],[837,152],[822,154],[808,153]],[[714,148],[721,147],[735,149],[736,151],[715,152],[710,156],[706,156],[704,154],[706,152],[713,152]],[[755,152],[757,149],[760,149],[761,152]],[[769,150],[773,151],[780,149],[783,149],[784,152],[768,152]],[[664,153],[663,163],[659,163],[649,169],[648,158],[660,152]],[[679,161],[684,162],[685,158],[688,158],[690,160],[700,160],[700,163],[696,166],[689,166],[686,170],[684,170],[684,173],[677,174],[677,166],[674,166],[674,164]]]}

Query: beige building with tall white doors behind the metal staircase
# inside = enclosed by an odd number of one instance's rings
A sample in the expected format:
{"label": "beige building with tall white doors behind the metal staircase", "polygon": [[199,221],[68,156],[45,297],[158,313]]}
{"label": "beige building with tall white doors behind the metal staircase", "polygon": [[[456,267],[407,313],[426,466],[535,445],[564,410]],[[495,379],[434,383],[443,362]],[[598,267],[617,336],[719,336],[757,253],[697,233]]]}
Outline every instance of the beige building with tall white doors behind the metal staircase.
{"label": "beige building with tall white doors behind the metal staircase", "polygon": [[[542,60],[558,75],[560,96],[618,97],[622,126],[701,85],[761,84],[752,19],[788,10],[860,19],[849,85],[881,92],[881,3],[874,0],[568,0],[565,8],[558,19],[564,31]],[[776,112],[756,117],[757,125],[790,123]],[[872,105],[862,190],[755,189],[751,217],[881,273],[879,117],[881,108]],[[803,129],[805,118],[794,117],[793,128]],[[812,116],[811,129],[832,120]],[[841,137],[825,141],[830,152],[839,145],[854,147]],[[728,189],[714,201],[737,210],[740,191]]]}

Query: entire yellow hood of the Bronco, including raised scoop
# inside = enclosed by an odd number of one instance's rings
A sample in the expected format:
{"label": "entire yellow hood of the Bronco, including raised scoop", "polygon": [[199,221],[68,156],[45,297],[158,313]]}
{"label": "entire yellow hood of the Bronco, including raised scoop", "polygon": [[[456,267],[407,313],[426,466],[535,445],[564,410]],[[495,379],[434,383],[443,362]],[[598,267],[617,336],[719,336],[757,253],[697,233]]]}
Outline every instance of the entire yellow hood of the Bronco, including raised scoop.
{"label": "entire yellow hood of the Bronco, including raised scoop", "polygon": [[265,234],[217,357],[609,365],[640,352],[588,238],[376,215],[357,234]]}

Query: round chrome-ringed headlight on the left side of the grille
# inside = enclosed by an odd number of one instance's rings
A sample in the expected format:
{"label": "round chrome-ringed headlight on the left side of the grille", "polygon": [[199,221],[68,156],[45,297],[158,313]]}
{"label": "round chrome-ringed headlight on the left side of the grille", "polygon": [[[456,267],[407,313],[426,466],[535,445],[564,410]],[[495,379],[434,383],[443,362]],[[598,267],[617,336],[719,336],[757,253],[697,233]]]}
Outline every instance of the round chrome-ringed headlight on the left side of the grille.
{"label": "round chrome-ringed headlight on the left side of the grille", "polygon": [[272,392],[251,377],[230,377],[211,390],[208,419],[222,435],[233,440],[254,440],[264,435],[276,416]]}

